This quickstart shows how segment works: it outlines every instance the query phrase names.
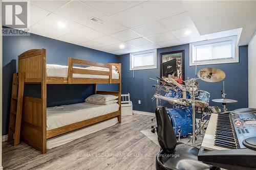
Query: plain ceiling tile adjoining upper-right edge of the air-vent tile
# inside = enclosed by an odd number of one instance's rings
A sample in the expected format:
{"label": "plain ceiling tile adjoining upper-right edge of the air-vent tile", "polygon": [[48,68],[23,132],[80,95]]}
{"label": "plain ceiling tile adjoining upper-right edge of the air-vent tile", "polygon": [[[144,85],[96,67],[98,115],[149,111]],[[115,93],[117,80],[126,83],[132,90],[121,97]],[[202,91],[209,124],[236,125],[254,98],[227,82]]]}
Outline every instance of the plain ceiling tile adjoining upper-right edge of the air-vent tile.
{"label": "plain ceiling tile adjoining upper-right edge of the air-vent tile", "polygon": [[155,18],[144,8],[135,6],[111,16],[125,27],[133,28],[152,22]]}

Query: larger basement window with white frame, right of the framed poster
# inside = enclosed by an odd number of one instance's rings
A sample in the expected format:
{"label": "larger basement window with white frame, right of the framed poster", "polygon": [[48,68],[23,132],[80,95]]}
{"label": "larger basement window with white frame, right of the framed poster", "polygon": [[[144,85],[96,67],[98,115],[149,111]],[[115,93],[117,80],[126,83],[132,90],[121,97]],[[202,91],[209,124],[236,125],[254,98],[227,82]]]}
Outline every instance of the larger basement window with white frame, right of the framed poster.
{"label": "larger basement window with white frame, right of the framed poster", "polygon": [[189,65],[239,62],[237,36],[230,36],[189,44]]}

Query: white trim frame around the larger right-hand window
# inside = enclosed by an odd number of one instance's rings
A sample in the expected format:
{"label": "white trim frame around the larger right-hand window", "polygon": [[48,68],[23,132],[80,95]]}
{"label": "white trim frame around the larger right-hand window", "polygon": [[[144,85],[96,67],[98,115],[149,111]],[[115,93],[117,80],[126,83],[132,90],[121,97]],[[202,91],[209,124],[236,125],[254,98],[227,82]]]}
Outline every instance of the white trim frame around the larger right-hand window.
{"label": "white trim frame around the larger right-hand window", "polygon": [[[194,45],[202,45],[202,44],[208,44],[208,43],[214,43],[214,42],[221,42],[226,40],[234,40],[235,46],[235,54],[234,54],[234,60],[223,60],[223,61],[205,61],[205,62],[198,62],[193,63],[193,46]],[[199,41],[199,42],[193,42],[189,43],[189,66],[195,66],[195,65],[209,65],[209,64],[226,64],[226,63],[238,63],[239,62],[239,47],[237,42],[237,36],[229,36],[224,38],[217,38],[212,40],[205,40],[205,41]]]}

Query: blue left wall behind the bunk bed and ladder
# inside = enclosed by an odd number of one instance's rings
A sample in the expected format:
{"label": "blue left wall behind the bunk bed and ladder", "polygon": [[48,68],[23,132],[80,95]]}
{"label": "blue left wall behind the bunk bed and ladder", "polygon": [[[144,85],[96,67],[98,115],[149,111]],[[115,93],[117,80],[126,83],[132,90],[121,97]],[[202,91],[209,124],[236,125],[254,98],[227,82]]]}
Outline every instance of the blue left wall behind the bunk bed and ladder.
{"label": "blue left wall behind the bunk bed and ladder", "polygon": [[[97,61],[102,63],[118,63],[118,57],[91,48],[54,40],[31,34],[30,36],[3,36],[3,135],[8,134],[12,75],[17,70],[17,56],[33,48],[46,48],[48,64],[68,64],[68,57]],[[25,94],[40,96],[37,85],[26,88]],[[117,90],[117,85],[99,85],[99,90]],[[93,93],[93,85],[48,85],[47,106],[83,102]]]}

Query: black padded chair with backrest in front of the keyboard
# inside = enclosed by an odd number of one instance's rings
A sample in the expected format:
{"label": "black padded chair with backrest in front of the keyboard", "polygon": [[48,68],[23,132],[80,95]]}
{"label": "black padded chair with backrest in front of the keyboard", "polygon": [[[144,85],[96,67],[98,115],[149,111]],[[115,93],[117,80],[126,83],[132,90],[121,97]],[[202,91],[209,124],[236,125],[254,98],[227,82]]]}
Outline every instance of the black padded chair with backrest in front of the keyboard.
{"label": "black padded chair with backrest in front of the keyboard", "polygon": [[198,148],[178,142],[170,120],[163,106],[156,109],[157,135],[161,151],[156,157],[156,170],[200,170],[220,169],[198,161]]}

